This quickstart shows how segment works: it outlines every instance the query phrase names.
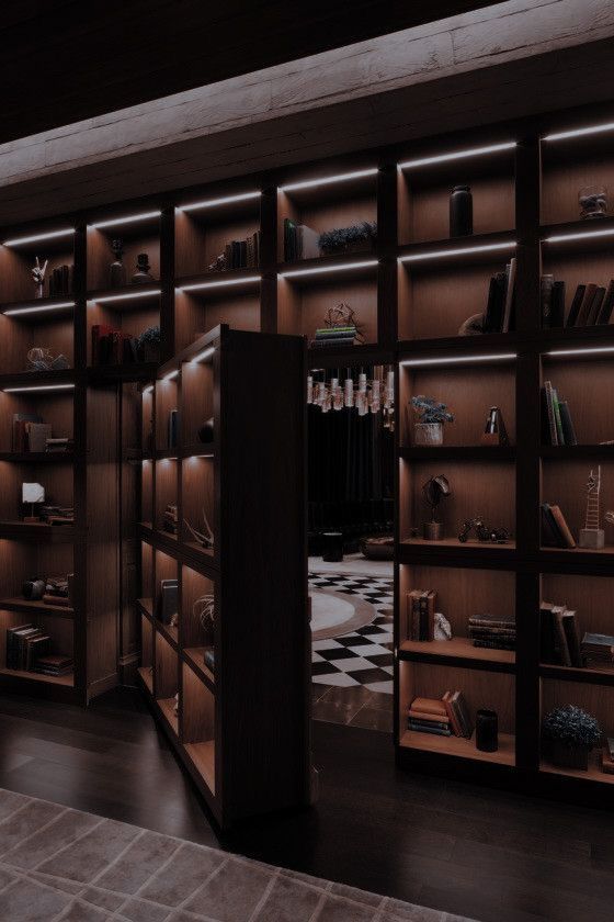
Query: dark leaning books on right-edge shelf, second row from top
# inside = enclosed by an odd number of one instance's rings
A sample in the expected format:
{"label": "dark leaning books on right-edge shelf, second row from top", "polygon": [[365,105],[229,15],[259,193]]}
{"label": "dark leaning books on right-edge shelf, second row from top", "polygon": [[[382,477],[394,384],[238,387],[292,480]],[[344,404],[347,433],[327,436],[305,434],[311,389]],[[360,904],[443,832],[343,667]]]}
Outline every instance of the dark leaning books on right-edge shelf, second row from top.
{"label": "dark leaning books on right-edge shelf, second row from top", "polygon": [[550,327],[602,326],[610,323],[614,310],[614,279],[607,288],[579,284],[565,317],[565,282],[542,276],[542,325]]}

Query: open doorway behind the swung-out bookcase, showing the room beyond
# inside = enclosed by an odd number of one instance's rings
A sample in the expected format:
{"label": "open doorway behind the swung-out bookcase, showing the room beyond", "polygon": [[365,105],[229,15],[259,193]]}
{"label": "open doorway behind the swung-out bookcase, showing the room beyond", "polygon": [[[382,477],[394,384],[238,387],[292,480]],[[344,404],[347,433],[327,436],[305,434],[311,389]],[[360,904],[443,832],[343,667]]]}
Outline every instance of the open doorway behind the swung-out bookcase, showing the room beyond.
{"label": "open doorway behind the swung-out bookcase, showing the room beyond", "polygon": [[312,716],[391,732],[394,371],[308,378]]}

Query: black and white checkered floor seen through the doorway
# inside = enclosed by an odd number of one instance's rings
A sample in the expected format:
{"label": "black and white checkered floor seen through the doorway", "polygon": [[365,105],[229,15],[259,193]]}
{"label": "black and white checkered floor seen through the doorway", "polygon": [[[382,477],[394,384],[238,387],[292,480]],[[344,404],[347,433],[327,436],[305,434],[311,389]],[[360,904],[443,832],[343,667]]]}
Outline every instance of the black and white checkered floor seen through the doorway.
{"label": "black and white checkered floor seen through the doorway", "polygon": [[369,692],[393,694],[393,581],[373,576],[310,573],[314,588],[359,595],[369,601],[376,617],[371,625],[334,640],[311,644],[311,679],[316,684],[350,688],[363,685]]}

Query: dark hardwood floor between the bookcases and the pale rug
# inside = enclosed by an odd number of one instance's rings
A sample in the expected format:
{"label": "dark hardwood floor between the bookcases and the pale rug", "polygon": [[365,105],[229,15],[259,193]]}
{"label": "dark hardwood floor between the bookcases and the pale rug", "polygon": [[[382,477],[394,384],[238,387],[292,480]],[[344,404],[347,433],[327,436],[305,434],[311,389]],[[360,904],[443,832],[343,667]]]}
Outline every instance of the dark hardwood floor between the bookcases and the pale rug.
{"label": "dark hardwood floor between the bookcases and the pale rug", "polygon": [[[612,922],[612,812],[398,773],[386,733],[314,723],[318,807],[221,845],[482,922]],[[0,697],[0,787],[220,844],[137,693]]]}

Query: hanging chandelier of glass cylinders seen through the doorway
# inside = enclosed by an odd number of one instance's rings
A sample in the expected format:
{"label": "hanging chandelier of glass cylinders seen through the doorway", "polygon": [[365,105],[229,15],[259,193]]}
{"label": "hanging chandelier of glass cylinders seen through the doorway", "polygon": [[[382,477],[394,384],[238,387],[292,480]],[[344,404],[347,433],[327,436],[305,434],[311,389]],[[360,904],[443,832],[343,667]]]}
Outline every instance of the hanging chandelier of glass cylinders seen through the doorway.
{"label": "hanging chandelier of glass cylinders seen through the doorway", "polygon": [[395,428],[395,371],[393,366],[378,366],[369,380],[361,369],[354,381],[351,369],[342,380],[339,370],[327,379],[323,369],[307,375],[307,403],[319,406],[322,413],[356,409],[359,416],[368,413],[383,415],[385,429]]}

